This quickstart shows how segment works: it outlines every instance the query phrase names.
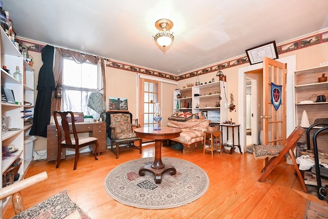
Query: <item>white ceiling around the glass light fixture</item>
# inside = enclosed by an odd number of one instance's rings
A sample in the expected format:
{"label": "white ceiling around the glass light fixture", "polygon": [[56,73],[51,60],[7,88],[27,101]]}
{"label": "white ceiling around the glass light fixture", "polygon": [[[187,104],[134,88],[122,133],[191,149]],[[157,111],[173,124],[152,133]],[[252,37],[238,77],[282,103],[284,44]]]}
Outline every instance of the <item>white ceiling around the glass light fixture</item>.
{"label": "white ceiling around the glass light fixture", "polygon": [[[19,37],[177,75],[328,28],[327,0],[2,1]],[[174,23],[164,51],[160,18]]]}

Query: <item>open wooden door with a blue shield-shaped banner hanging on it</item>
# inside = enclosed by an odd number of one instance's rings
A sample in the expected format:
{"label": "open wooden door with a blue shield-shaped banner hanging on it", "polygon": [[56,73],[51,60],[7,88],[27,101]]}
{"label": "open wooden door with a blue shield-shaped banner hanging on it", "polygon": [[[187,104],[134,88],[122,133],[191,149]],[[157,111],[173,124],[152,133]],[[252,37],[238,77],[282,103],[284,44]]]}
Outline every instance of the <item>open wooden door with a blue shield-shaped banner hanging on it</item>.
{"label": "open wooden door with a blue shield-shaped banner hanging on it", "polygon": [[[271,58],[263,58],[263,144],[283,145],[286,140],[286,66]],[[281,85],[281,90],[272,84]],[[272,103],[272,98],[274,103]],[[276,110],[278,99],[281,104]],[[291,109],[292,110],[292,109]]]}

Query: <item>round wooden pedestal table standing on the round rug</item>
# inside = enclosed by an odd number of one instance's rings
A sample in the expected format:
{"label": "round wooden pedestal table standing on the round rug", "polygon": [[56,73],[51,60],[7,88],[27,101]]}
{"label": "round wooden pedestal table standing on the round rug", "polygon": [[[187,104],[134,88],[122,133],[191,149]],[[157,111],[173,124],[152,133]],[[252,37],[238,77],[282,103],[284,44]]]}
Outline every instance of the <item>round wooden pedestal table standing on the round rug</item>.
{"label": "round wooden pedestal table standing on the round rug", "polygon": [[155,140],[155,159],[152,164],[143,166],[139,170],[139,175],[144,176],[145,171],[152,172],[155,175],[155,183],[161,183],[162,174],[166,171],[170,171],[171,175],[176,173],[176,170],[171,165],[163,164],[161,160],[161,147],[162,141],[174,137],[179,137],[181,129],[160,127],[161,130],[154,130],[153,127],[137,128],[134,130],[138,137],[149,138]]}

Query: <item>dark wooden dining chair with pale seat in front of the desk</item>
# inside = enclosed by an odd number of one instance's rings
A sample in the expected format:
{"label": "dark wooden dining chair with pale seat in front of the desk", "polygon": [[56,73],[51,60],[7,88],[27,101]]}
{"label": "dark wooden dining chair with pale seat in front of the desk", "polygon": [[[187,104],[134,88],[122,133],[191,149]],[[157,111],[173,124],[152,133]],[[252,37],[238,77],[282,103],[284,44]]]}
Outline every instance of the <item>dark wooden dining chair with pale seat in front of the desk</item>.
{"label": "dark wooden dining chair with pale seat in front of the desk", "polygon": [[[59,125],[57,116],[61,117],[61,126]],[[68,115],[71,117],[72,124],[68,122]],[[56,168],[59,167],[60,163],[60,156],[61,156],[61,148],[72,148],[75,149],[75,161],[74,161],[74,169],[76,170],[79,149],[88,145],[95,145],[95,153],[94,158],[97,158],[97,149],[98,149],[98,142],[96,137],[78,137],[76,133],[75,123],[74,123],[74,113],[71,111],[54,111],[53,112],[54,121],[56,124],[56,129],[58,132],[58,154],[57,154],[57,163]],[[64,131],[64,140],[62,140],[62,131]],[[71,137],[73,134],[73,137]]]}

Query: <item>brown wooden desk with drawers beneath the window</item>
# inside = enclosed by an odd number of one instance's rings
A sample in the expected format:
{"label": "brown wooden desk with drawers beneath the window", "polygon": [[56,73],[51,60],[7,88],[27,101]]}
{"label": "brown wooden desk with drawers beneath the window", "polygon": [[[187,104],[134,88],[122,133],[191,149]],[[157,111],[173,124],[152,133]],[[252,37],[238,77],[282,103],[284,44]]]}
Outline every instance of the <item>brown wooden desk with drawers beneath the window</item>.
{"label": "brown wooden desk with drawers beneath the window", "polygon": [[[83,122],[83,123],[75,123],[76,131],[78,133],[89,133],[90,136],[96,137],[98,139],[98,151],[105,152],[106,151],[106,123],[105,122]],[[47,126],[47,161],[56,161],[57,153],[58,153],[58,133],[56,129],[56,125],[48,125]],[[64,140],[64,136],[63,136]],[[94,153],[94,149],[92,149]],[[66,157],[66,148],[63,148],[63,152],[61,154],[61,159],[65,159]]]}

